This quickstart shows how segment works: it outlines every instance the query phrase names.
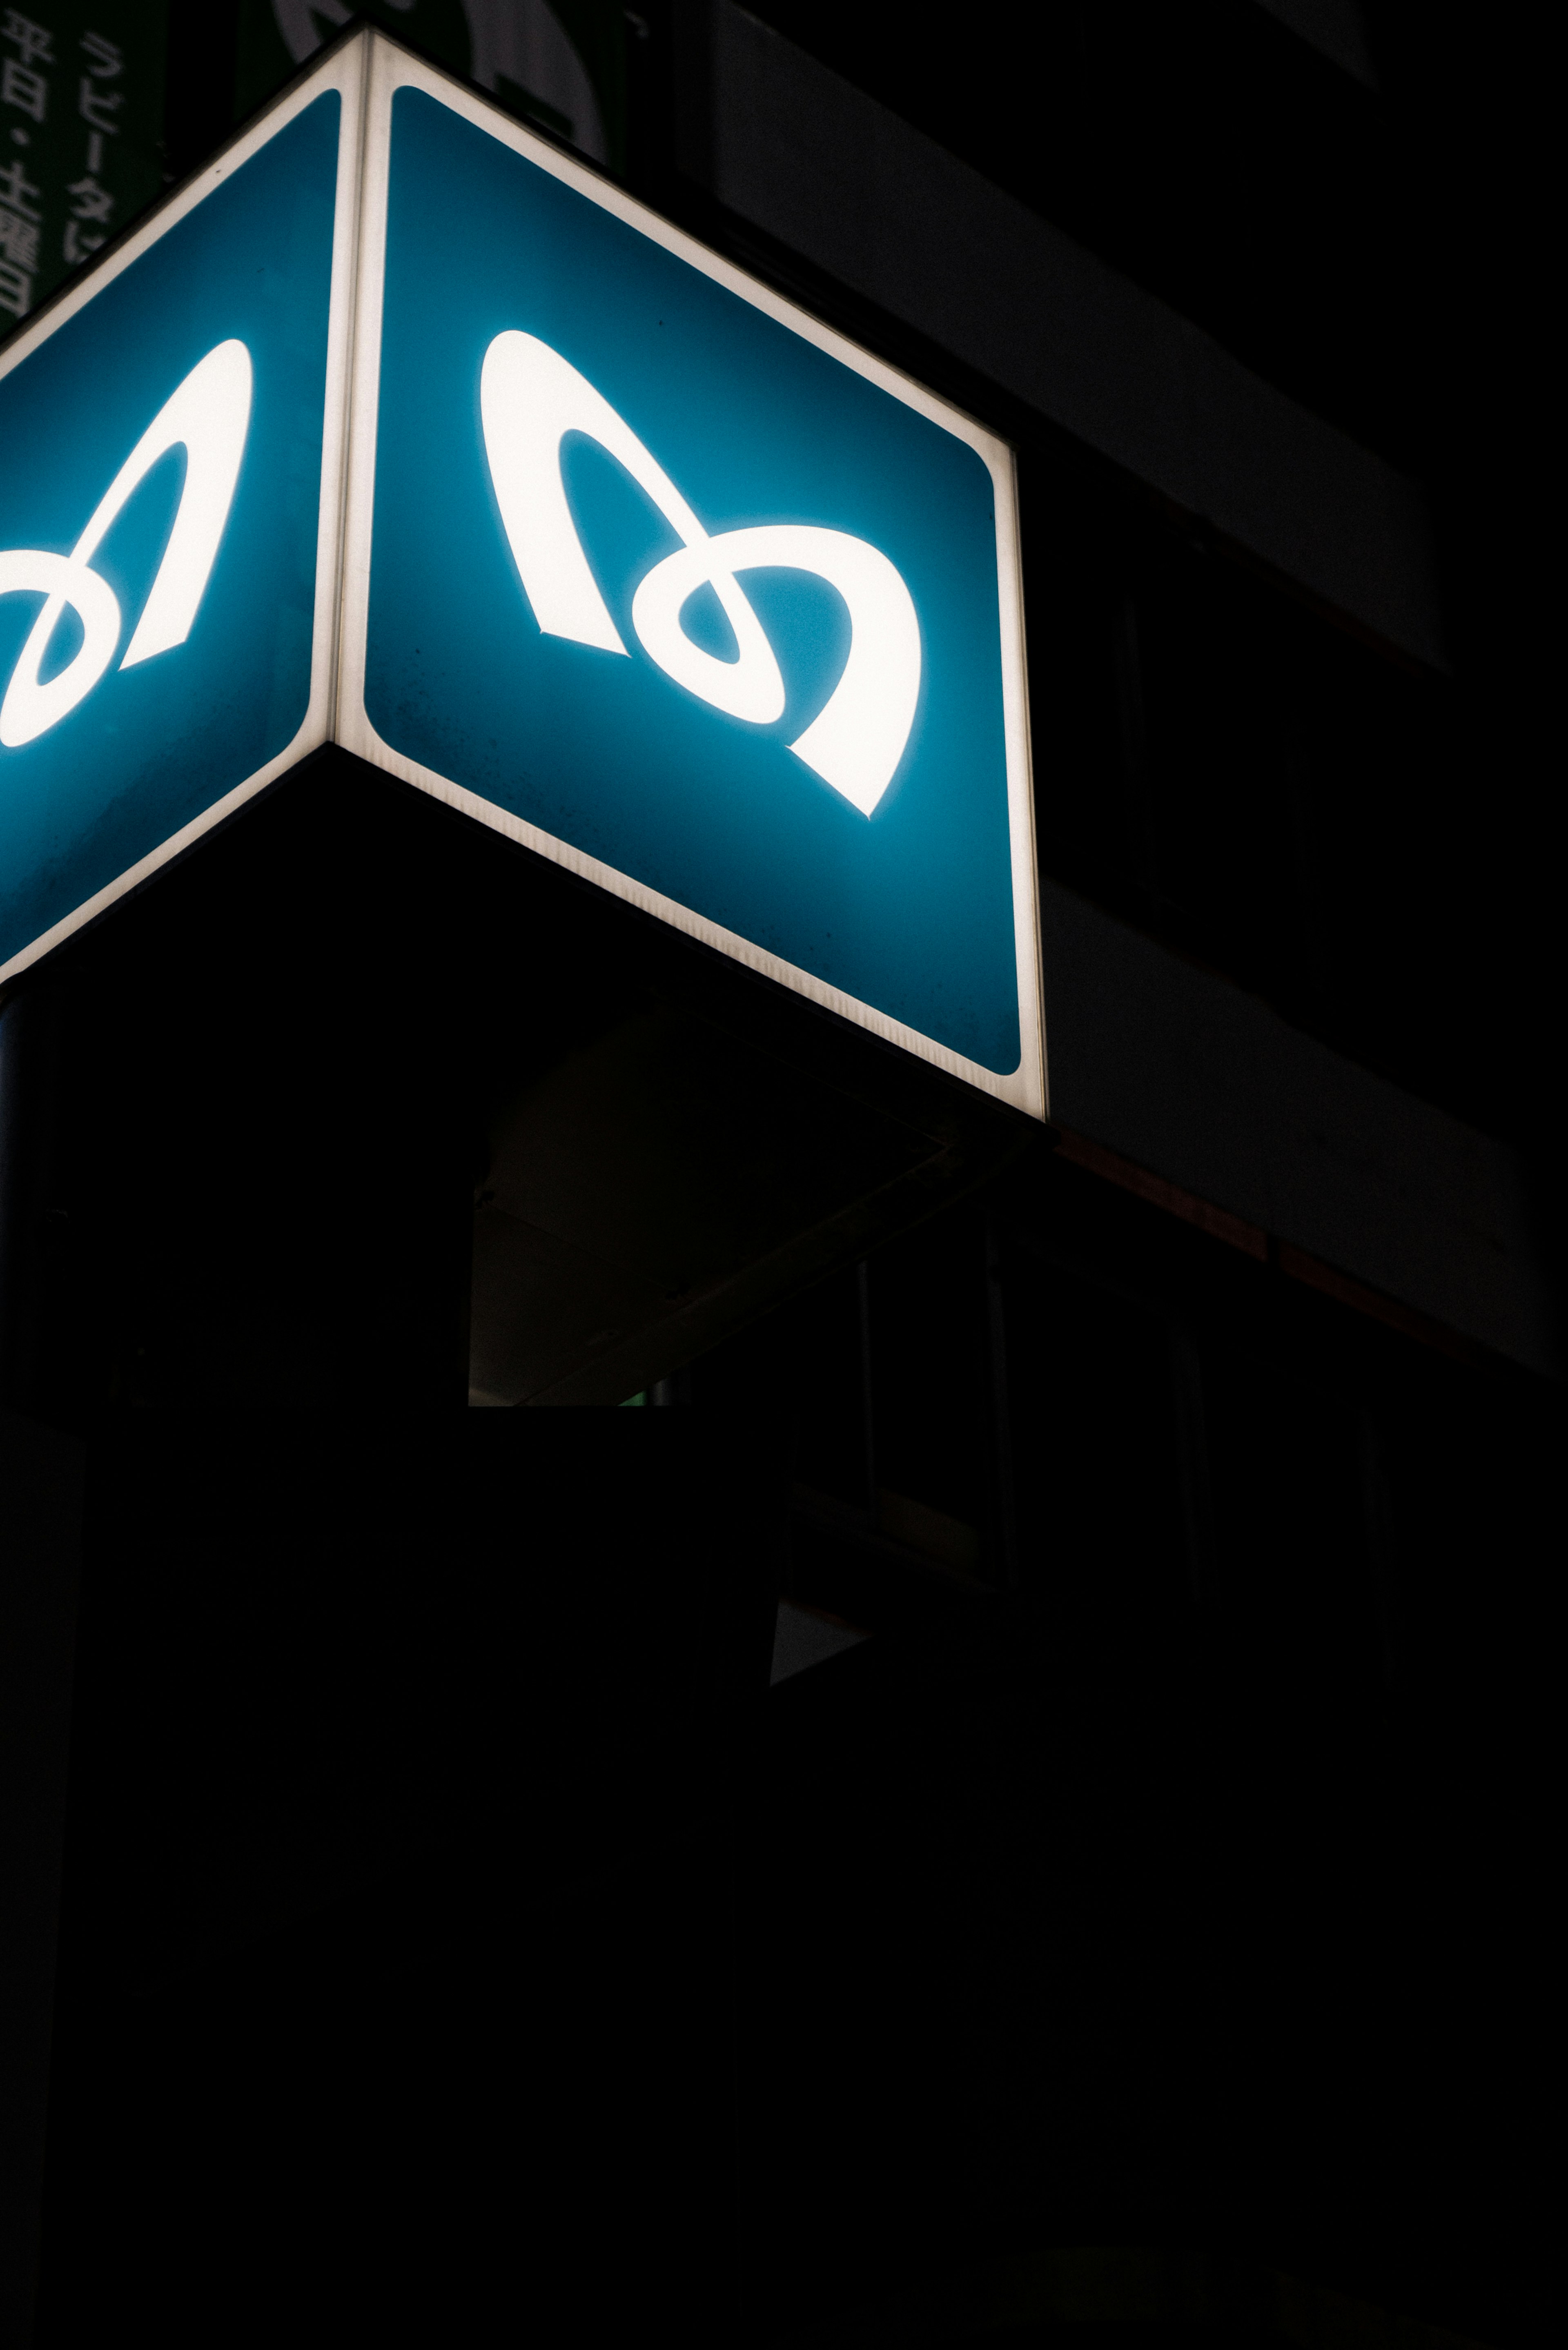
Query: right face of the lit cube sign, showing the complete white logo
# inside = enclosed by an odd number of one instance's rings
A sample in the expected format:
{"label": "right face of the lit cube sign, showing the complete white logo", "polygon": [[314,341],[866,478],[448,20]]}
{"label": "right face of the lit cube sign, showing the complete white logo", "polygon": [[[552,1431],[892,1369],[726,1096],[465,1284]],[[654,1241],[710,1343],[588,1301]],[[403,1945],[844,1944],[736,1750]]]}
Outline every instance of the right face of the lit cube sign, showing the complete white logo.
{"label": "right face of the lit cube sign, showing the complete white logo", "polygon": [[390,47],[369,103],[343,738],[1041,1109],[1009,451]]}

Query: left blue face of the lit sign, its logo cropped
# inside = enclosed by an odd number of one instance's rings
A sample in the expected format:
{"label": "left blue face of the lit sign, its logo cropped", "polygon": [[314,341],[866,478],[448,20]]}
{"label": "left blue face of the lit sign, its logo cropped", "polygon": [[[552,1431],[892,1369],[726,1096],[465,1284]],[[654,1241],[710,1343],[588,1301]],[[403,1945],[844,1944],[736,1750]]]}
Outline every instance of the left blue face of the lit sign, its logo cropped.
{"label": "left blue face of the lit sign, its logo cropped", "polygon": [[0,968],[324,738],[341,82],[0,357]]}

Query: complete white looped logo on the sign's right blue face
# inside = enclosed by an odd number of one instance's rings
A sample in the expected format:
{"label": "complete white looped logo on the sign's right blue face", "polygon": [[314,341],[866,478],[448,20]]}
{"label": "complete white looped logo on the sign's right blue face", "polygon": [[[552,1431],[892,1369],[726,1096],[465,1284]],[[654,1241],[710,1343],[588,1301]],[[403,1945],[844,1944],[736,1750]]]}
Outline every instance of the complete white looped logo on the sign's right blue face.
{"label": "complete white looped logo on the sign's right blue face", "polygon": [[[823,783],[870,815],[898,771],[919,700],[919,620],[900,573],[865,538],[804,522],[769,522],[708,536],[675,482],[611,404],[557,350],[531,334],[498,334],[480,374],[484,454],[512,562],[545,637],[625,653],[578,540],[562,484],[562,437],[583,432],[649,494],[682,538],[632,597],[632,627],[649,660],[686,693],[729,717],[771,726],[785,686],[773,646],[736,571],[811,571],[849,606],[849,660],[818,717],[790,743]],[[679,616],[710,585],[736,632],[738,658],[717,660]]]}

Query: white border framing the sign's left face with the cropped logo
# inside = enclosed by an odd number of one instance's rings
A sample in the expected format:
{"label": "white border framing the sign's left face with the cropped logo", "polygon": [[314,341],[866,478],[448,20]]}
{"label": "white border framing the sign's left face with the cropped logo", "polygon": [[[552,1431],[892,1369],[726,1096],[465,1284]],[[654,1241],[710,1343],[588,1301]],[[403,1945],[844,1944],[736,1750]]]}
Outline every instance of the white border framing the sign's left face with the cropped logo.
{"label": "white border framing the sign's left face with the cropped logo", "polygon": [[113,254],[108,254],[80,284],[61,294],[59,301],[49,303],[40,313],[35,324],[24,324],[19,334],[12,336],[7,348],[0,352],[0,381],[21,367],[31,355],[59,334],[59,329],[78,317],[96,296],[115,282],[125,270],[129,270],[160,237],[167,237],[172,228],[195,212],[209,195],[233,179],[254,155],[277,139],[280,132],[289,127],[308,106],[315,106],[320,96],[336,89],[341,96],[339,108],[339,179],[334,195],[334,219],[331,219],[331,280],[327,301],[327,411],[322,418],[322,491],[317,508],[315,529],[315,613],[310,623],[310,698],[306,703],[306,714],[294,733],[294,740],[259,766],[254,776],[235,783],[221,799],[214,799],[209,808],[193,815],[188,825],[172,832],[167,841],[150,848],[148,855],[129,865],[118,879],[108,881],[92,898],[85,898],[71,914],[63,914],[54,928],[42,931],[31,945],[21,947],[9,964],[0,966],[0,985],[14,980],[19,973],[28,971],[33,964],[52,954],[54,947],[63,945],[75,931],[82,931],[89,921],[96,921],[118,898],[127,898],[132,891],[155,874],[162,865],[181,858],[205,832],[223,825],[247,799],[266,792],[270,783],[277,783],[292,766],[299,766],[313,750],[331,740],[331,717],[336,707],[336,646],[339,646],[339,573],[341,573],[341,531],[343,531],[343,472],[346,472],[346,435],[348,435],[348,367],[350,367],[350,334],[353,334],[353,291],[355,291],[355,258],[357,258],[357,219],[360,219],[360,167],[364,155],[364,66],[367,45],[364,40],[343,42],[329,56],[320,61],[308,75],[303,75],[294,89],[289,89],[268,113],[263,113],[249,129],[240,132],[214,160],[197,172],[183,188],[176,188],[143,223],[132,230],[132,235]]}

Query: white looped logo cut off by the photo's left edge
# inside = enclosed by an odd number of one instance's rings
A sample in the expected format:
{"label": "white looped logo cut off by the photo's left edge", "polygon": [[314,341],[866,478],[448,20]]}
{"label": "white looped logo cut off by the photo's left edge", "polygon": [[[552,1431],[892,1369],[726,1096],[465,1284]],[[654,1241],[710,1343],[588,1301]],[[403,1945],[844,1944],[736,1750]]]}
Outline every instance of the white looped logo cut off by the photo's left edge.
{"label": "white looped logo cut off by the photo's left edge", "polygon": [[[47,733],[49,726],[59,726],[92,693],[115,658],[122,625],[120,599],[108,580],[92,569],[92,557],[139,482],[160,456],[181,444],[186,449],[186,484],[179,494],[179,512],[120,667],[132,670],[136,663],[153,660],[155,653],[167,653],[186,642],[228,522],[249,416],[252,355],[244,343],[219,343],[162,404],[103,491],[71,555],[47,555],[42,548],[0,552],[0,595],[45,597],[45,609],[21,646],[0,703],[0,743],[7,750],[19,750]],[[40,684],[38,672],[66,604],[82,623],[82,642],[66,667]]]}

